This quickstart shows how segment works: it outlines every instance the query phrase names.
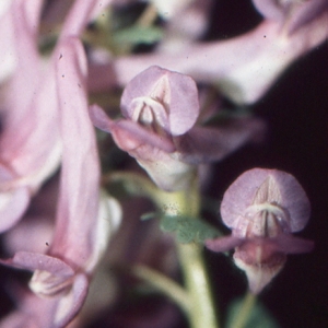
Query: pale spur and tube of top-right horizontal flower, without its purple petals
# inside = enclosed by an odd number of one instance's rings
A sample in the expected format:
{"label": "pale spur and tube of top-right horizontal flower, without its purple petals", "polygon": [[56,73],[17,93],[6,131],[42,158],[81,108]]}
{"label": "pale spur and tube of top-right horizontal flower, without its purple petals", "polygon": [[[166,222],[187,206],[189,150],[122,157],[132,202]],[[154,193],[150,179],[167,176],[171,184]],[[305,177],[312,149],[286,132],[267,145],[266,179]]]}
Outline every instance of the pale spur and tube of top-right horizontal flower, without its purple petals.
{"label": "pale spur and tube of top-right horizontal flower, without its purple petals", "polygon": [[323,13],[307,28],[289,37],[279,22],[265,21],[241,36],[194,44],[177,54],[120,57],[110,63],[115,70],[113,78],[126,85],[149,66],[159,65],[189,74],[196,81],[215,83],[236,103],[255,103],[292,61],[327,39],[327,17]]}

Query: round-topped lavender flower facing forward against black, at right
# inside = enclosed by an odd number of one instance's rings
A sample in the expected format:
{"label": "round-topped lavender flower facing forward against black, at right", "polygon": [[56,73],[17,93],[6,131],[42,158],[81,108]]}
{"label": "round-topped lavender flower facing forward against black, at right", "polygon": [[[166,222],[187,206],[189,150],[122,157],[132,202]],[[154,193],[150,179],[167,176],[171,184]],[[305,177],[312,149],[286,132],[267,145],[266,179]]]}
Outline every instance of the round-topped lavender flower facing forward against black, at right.
{"label": "round-topped lavender flower facing forward against black, at right", "polygon": [[313,242],[292,235],[304,229],[309,214],[307,196],[292,175],[254,168],[242,174],[223,196],[221,215],[232,235],[209,239],[206,246],[214,251],[235,247],[234,261],[257,294],[282,269],[286,254],[313,249]]}

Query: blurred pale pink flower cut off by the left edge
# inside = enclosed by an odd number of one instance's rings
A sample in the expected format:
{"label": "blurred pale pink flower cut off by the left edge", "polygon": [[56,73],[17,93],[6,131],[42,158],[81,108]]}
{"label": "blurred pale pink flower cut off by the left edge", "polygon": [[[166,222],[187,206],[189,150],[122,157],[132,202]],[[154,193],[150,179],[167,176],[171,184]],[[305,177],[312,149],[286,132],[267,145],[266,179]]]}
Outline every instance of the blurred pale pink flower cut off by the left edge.
{"label": "blurred pale pink flower cut off by the left edge", "polygon": [[[40,9],[40,0],[11,1],[4,17],[10,19],[10,33],[1,35],[1,42],[9,43],[5,50],[12,51],[12,67],[0,107],[0,232],[21,219],[31,197],[60,162],[55,83],[47,74],[51,68],[43,71],[37,50]],[[4,59],[2,65],[10,63]]]}

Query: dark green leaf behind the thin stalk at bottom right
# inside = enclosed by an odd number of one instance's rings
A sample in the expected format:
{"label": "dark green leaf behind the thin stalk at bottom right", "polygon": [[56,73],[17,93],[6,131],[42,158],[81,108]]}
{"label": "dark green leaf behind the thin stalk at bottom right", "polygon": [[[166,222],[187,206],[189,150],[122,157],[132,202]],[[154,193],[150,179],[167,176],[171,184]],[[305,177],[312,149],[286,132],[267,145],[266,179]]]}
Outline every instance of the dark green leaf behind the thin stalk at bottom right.
{"label": "dark green leaf behind the thin stalk at bottom right", "polygon": [[[230,305],[227,311],[227,319],[225,328],[235,328],[236,321],[238,321],[238,317],[241,313],[243,313],[244,300],[237,298]],[[269,314],[269,312],[258,302],[256,302],[247,316],[245,317],[245,321],[243,326],[238,326],[243,328],[279,328],[279,325],[274,320],[274,318]]]}

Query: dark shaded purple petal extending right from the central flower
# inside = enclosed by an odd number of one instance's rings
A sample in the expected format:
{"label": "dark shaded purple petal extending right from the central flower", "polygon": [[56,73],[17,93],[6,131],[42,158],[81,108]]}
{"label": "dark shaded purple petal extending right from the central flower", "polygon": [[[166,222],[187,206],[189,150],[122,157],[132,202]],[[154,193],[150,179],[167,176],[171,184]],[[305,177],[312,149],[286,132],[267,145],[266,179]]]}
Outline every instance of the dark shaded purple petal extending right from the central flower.
{"label": "dark shaded purple petal extending right from the central flower", "polygon": [[260,119],[232,119],[218,128],[194,127],[174,142],[180,160],[196,165],[224,159],[247,142],[261,139],[263,130]]}

